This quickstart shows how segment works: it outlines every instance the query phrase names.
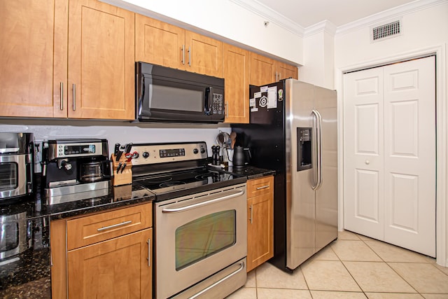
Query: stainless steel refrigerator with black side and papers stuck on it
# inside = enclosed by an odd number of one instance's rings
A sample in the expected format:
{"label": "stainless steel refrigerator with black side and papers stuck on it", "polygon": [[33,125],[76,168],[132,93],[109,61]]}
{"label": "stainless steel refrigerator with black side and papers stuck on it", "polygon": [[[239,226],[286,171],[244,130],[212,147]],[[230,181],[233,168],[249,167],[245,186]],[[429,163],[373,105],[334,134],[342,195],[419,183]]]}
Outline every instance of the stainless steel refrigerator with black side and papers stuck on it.
{"label": "stainless steel refrigerator with black side and papers stuck on it", "polygon": [[250,124],[232,125],[250,165],[276,170],[274,258],[293,271],[337,238],[337,96],[295,79],[250,88]]}

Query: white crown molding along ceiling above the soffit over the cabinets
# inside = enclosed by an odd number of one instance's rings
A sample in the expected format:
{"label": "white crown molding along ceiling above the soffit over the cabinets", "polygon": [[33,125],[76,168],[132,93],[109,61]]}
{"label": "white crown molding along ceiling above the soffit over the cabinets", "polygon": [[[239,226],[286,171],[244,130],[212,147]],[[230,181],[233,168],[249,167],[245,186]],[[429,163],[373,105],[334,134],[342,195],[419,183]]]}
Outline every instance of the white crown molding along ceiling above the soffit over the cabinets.
{"label": "white crown molding along ceiling above the soffit over the cabinets", "polygon": [[297,34],[297,36],[300,37],[304,36],[304,28],[302,26],[286,18],[284,15],[277,13],[271,8],[263,4],[260,4],[260,2],[256,0],[230,0],[230,2],[233,2],[245,8],[248,11],[260,15],[262,18],[266,18],[270,22],[273,22],[276,25],[279,25],[280,27],[289,30],[290,32]]}

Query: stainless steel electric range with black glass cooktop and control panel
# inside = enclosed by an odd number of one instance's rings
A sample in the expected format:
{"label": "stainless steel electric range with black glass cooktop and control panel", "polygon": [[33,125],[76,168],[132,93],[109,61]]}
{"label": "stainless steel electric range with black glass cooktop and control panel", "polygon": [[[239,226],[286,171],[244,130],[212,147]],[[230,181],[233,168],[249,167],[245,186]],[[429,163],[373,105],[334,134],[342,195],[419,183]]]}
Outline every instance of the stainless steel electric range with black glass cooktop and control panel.
{"label": "stainless steel electric range with black glass cooktop and control panel", "polygon": [[246,177],[209,169],[205,142],[131,152],[134,183],[156,195],[155,298],[224,298],[244,286]]}

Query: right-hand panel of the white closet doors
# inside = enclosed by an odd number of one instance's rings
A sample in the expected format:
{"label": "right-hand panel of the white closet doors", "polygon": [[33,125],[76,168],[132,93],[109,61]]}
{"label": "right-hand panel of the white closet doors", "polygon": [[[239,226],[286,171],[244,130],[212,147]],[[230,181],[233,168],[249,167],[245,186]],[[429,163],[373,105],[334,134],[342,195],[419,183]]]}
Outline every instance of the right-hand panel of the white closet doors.
{"label": "right-hand panel of the white closet doors", "polygon": [[435,257],[435,57],[384,67],[384,241]]}

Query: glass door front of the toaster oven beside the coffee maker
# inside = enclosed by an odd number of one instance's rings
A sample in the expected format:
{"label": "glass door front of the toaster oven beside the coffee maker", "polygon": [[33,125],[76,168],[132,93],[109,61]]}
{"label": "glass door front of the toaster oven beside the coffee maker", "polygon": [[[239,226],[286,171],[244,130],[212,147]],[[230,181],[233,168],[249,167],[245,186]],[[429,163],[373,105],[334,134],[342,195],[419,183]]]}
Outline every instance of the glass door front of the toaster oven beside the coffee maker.
{"label": "glass door front of the toaster oven beside the coffee maker", "polygon": [[31,192],[29,154],[0,155],[0,200]]}

